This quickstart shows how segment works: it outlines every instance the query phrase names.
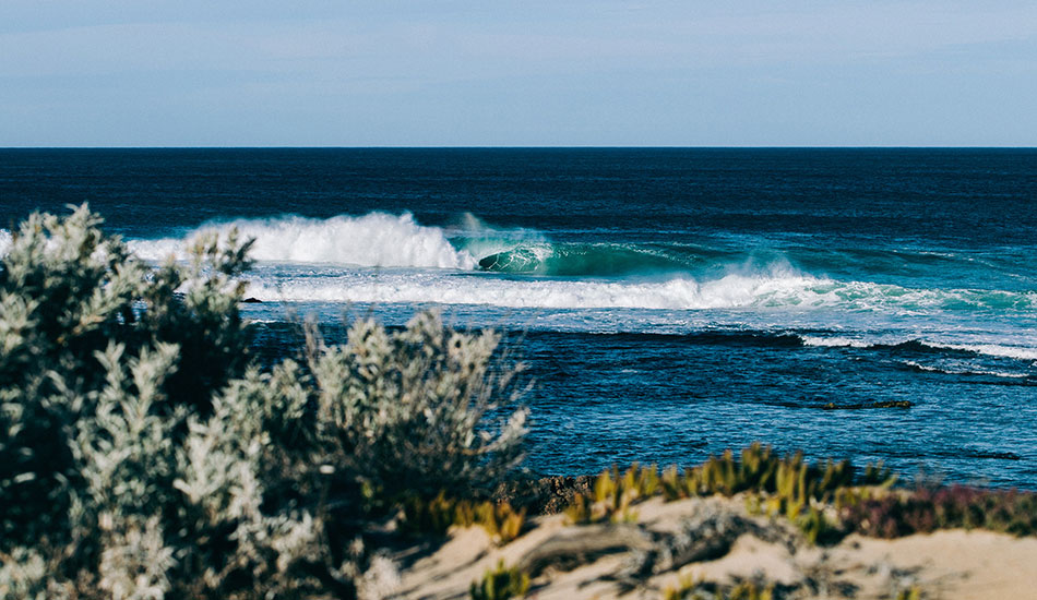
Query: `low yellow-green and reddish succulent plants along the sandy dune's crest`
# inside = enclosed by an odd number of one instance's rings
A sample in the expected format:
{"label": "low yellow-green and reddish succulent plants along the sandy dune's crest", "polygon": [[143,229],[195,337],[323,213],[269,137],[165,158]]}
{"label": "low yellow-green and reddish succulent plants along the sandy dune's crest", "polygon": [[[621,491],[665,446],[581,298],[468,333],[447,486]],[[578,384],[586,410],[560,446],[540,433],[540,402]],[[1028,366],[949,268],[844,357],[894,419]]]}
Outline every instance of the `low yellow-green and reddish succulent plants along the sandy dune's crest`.
{"label": "low yellow-green and reddish succulent plants along the sandy dune's crest", "polygon": [[595,480],[593,494],[575,494],[565,515],[579,525],[632,521],[635,505],[654,496],[742,494],[750,512],[787,518],[810,543],[837,542],[855,531],[881,538],[951,528],[1037,535],[1037,494],[961,485],[894,490],[895,481],[881,465],[808,464],[801,453],[777,456],[756,443],[738,457],[727,451],[684,471],[612,467]]}

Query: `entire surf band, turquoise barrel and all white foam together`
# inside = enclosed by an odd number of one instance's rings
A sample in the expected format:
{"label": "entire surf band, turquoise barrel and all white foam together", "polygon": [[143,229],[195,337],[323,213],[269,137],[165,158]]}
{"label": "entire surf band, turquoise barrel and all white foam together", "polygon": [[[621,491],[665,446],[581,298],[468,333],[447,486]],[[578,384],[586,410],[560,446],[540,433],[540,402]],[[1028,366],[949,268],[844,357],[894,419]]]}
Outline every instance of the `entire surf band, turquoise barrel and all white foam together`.
{"label": "entire surf band, turquoise barrel and all white foam together", "polygon": [[[181,237],[130,240],[129,247],[157,263],[170,256],[183,260],[201,236],[227,238],[234,230],[253,240],[257,265],[247,293],[276,307],[274,314],[250,308],[262,321],[276,321],[284,307],[327,312],[335,305],[381,311],[467,305],[469,314],[480,311],[482,321],[516,328],[547,322],[567,332],[672,334],[707,323],[795,335],[807,347],[879,350],[917,344],[932,353],[1037,361],[1037,337],[1030,331],[994,331],[984,323],[991,311],[1034,319],[1034,291],[843,281],[806,273],[774,253],[761,263],[752,253],[739,257],[699,248],[694,256],[667,261],[658,243],[559,243],[535,230],[494,228],[470,213],[463,223],[456,228],[427,226],[412,213],[327,219],[289,215],[211,223]],[[621,275],[601,276],[608,268],[600,263],[624,268]],[[654,319],[645,319],[653,313]],[[847,326],[857,327],[857,337],[843,335]],[[1029,376],[1026,370],[946,370],[902,362],[927,372]]]}

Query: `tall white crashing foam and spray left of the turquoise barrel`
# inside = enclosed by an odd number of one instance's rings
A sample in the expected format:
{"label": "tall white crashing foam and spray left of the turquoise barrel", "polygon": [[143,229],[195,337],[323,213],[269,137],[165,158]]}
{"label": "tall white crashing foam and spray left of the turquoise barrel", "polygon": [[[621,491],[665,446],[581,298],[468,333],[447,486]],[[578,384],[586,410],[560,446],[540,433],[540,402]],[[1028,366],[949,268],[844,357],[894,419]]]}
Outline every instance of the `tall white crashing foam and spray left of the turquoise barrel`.
{"label": "tall white crashing foam and spray left of the turquoise barrel", "polygon": [[410,214],[238,219],[204,226],[184,238],[132,240],[129,245],[145,260],[182,256],[195,235],[212,230],[226,233],[231,228],[246,238],[255,238],[250,255],[258,261],[464,269],[476,264],[469,253],[450,244],[442,229],[418,225]]}

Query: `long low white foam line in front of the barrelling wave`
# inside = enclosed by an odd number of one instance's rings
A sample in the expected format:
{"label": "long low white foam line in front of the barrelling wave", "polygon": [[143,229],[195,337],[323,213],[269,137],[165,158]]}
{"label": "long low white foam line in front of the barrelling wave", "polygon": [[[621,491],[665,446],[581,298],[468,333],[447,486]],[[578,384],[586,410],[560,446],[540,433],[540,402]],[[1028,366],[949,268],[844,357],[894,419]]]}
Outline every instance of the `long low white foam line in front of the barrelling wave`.
{"label": "long low white foam line in front of the barrelling wave", "polygon": [[[460,262],[460,261],[458,261]],[[398,263],[397,263],[398,264]],[[470,261],[465,261],[465,265]],[[688,275],[665,281],[644,279],[560,279],[498,277],[443,272],[337,271],[321,276],[259,277],[262,299],[324,302],[490,304],[508,308],[630,309],[838,309],[854,312],[921,314],[932,310],[988,309],[989,295],[1013,295],[1013,308],[1037,308],[1033,292],[909,289],[867,281],[838,281],[803,274],[784,261],[743,266],[713,279]],[[905,340],[883,343],[897,344]],[[812,346],[867,346],[874,341],[808,336]]]}

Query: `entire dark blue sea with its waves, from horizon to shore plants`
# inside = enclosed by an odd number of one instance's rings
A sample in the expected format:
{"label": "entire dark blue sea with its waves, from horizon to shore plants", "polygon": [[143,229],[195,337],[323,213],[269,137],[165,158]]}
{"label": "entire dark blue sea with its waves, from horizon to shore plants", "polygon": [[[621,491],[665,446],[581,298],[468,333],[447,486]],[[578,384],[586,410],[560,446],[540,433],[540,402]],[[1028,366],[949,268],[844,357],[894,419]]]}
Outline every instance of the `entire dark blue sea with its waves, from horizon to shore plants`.
{"label": "entire dark blue sea with its waves, from horizon to shore plants", "polygon": [[503,331],[540,472],[760,440],[1037,488],[1037,151],[0,149],[0,251],[82,202],[150,260],[255,237],[263,356],[289,312]]}

